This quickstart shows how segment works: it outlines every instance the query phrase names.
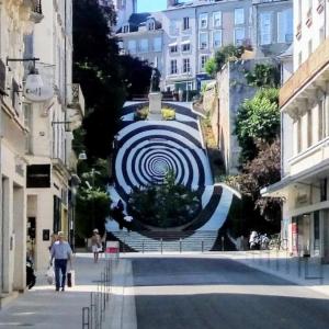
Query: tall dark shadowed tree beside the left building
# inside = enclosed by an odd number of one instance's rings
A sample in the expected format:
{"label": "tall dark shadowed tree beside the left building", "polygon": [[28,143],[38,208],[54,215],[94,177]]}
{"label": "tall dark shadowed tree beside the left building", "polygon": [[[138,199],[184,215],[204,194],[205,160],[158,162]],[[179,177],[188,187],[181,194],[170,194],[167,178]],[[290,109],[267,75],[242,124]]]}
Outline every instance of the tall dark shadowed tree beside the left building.
{"label": "tall dark shadowed tree beside the left building", "polygon": [[150,68],[120,56],[107,19],[115,21],[112,7],[103,11],[98,1],[73,1],[73,81],[86,99],[83,144],[89,159],[109,157],[126,98],[149,86]]}

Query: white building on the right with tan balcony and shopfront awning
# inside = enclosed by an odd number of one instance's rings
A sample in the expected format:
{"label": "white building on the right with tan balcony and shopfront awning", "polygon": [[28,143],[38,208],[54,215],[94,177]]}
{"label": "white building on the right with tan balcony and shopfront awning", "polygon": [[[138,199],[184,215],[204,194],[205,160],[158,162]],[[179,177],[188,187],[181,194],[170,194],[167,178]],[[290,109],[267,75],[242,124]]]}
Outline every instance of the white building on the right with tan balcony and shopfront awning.
{"label": "white building on the right with tan balcony and shopfront awning", "polygon": [[282,180],[263,195],[282,197],[282,234],[295,254],[329,261],[328,2],[294,1],[294,73],[280,92]]}

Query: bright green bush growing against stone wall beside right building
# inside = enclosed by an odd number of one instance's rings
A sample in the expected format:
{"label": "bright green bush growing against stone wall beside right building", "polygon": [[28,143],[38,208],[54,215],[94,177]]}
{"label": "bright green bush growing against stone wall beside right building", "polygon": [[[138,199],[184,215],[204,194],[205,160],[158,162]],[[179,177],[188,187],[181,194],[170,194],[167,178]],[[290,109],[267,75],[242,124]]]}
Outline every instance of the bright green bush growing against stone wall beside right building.
{"label": "bright green bush growing against stone wall beside right building", "polygon": [[239,107],[236,134],[241,147],[241,162],[257,156],[257,143],[272,143],[280,129],[279,91],[261,89]]}

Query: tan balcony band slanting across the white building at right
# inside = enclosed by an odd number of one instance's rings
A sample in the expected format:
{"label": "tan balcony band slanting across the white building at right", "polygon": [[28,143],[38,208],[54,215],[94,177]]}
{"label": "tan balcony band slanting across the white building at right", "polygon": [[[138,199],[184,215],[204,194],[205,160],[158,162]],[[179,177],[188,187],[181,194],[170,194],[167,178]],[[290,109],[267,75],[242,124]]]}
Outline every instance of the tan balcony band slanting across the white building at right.
{"label": "tan balcony band slanting across the white building at right", "polygon": [[280,106],[286,104],[314,76],[329,65],[329,38],[308,57],[280,90]]}

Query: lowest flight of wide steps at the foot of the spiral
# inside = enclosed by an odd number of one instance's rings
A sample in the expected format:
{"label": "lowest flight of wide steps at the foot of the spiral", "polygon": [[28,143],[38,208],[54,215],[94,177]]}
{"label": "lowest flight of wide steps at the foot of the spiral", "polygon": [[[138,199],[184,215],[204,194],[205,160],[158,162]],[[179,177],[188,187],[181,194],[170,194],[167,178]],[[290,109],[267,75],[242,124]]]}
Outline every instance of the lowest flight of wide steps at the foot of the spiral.
{"label": "lowest flight of wide steps at the foot of the spiral", "polygon": [[200,231],[112,231],[121,251],[186,252],[209,251],[217,239],[216,230]]}

